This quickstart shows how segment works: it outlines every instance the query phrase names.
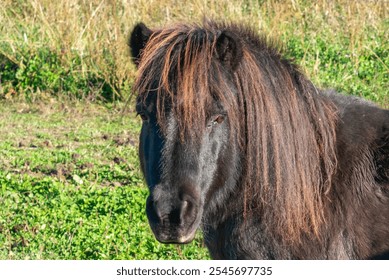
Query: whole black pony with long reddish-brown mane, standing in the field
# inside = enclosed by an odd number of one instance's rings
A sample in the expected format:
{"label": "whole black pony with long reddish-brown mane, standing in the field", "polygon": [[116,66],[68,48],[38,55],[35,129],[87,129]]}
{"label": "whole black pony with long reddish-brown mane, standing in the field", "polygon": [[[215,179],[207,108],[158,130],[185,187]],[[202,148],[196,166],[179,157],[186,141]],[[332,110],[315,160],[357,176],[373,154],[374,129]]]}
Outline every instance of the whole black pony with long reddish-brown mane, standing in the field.
{"label": "whole black pony with long reddish-brown mane, standing in the field", "polygon": [[213,259],[389,258],[389,110],[321,90],[233,23],[137,24],[139,159],[156,239]]}

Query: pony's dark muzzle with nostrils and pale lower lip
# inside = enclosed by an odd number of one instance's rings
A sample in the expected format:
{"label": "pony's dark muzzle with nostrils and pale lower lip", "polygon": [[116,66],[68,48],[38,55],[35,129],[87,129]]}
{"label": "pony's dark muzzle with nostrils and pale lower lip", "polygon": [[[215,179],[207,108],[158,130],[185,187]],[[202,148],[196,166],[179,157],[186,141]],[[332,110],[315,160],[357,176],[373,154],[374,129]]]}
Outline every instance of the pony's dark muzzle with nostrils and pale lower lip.
{"label": "pony's dark muzzle with nostrils and pale lower lip", "polygon": [[199,204],[189,195],[173,199],[170,195],[151,193],[146,202],[150,227],[161,243],[191,242],[201,220],[199,209]]}

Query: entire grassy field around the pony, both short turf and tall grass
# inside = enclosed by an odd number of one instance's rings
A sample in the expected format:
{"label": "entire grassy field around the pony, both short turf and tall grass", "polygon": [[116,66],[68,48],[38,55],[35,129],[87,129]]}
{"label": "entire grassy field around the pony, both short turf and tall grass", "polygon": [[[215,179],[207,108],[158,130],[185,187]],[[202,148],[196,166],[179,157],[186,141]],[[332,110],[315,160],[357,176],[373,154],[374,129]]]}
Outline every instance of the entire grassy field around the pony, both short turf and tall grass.
{"label": "entire grassy field around the pony, both short turf and tall grass", "polygon": [[204,17],[282,46],[321,87],[389,108],[385,0],[48,1],[0,7],[0,259],[207,259],[144,213],[127,38]]}

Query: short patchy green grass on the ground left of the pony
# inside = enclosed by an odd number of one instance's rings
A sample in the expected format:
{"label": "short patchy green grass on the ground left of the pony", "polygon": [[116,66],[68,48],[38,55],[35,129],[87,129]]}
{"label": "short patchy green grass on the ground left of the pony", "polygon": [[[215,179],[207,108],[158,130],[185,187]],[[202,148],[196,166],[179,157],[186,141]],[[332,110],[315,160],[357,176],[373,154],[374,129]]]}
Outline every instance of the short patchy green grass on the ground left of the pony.
{"label": "short patchy green grass on the ground left of the pony", "polygon": [[0,259],[198,259],[166,246],[145,215],[139,122],[72,102],[0,107]]}

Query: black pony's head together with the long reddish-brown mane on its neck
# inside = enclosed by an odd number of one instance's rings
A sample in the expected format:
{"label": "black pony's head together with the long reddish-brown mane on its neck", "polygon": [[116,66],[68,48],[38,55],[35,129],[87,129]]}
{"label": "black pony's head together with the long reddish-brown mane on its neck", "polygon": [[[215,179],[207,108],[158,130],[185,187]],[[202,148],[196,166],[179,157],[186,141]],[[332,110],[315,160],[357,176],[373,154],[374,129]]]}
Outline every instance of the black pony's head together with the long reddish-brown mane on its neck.
{"label": "black pony's head together with the long reddish-brown mane on its neck", "polygon": [[129,44],[157,239],[189,242],[205,214],[232,208],[282,240],[319,237],[336,116],[304,75],[234,25],[138,24]]}

